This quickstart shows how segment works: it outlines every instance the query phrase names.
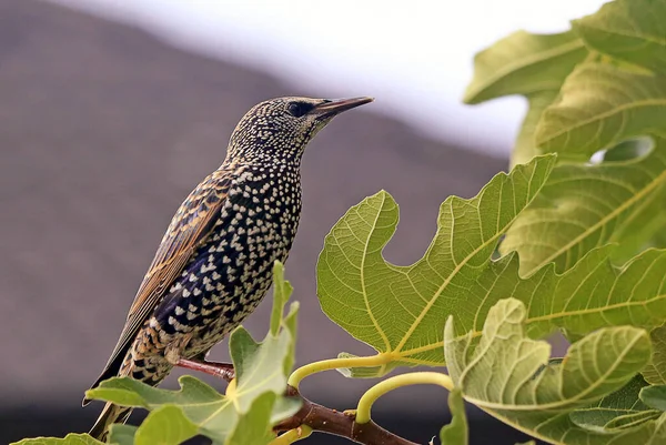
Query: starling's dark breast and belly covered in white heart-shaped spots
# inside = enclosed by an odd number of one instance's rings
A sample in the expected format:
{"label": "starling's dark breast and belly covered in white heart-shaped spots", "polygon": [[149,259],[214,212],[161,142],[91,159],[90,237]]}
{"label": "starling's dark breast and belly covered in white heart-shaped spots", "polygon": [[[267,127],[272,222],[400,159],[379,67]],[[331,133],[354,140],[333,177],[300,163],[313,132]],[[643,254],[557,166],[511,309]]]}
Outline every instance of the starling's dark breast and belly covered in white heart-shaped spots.
{"label": "starling's dark breast and belly covered in white heart-shaped spots", "polygon": [[300,213],[297,173],[234,179],[211,235],[155,311],[164,335],[201,332],[191,342],[198,352],[241,323],[269,290],[275,260],[286,261]]}

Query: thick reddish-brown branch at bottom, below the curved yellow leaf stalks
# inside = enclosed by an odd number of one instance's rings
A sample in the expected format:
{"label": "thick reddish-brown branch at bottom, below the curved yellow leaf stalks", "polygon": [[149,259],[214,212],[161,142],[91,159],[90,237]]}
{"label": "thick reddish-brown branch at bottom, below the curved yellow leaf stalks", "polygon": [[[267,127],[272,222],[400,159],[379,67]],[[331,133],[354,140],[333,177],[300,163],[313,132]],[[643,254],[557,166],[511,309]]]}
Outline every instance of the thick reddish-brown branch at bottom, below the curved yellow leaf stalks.
{"label": "thick reddish-brown branch at bottom, below the curved yellow leaf stalks", "polygon": [[359,444],[365,445],[418,445],[387,432],[374,422],[356,423],[355,414],[341,413],[335,409],[319,405],[303,397],[296,388],[289,386],[287,397],[297,397],[301,409],[287,419],[282,421],[273,428],[276,433],[309,426],[313,431],[346,437]]}

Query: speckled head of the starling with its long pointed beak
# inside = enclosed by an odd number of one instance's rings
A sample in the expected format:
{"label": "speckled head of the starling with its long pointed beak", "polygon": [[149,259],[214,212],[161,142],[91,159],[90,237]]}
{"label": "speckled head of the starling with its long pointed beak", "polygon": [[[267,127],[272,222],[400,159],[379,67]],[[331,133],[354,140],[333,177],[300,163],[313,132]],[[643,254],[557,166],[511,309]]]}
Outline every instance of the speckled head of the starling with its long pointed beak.
{"label": "speckled head of the starling with its long pointed beak", "polygon": [[307,142],[334,117],[372,101],[372,98],[278,98],[261,102],[236,125],[226,158],[299,160]]}

